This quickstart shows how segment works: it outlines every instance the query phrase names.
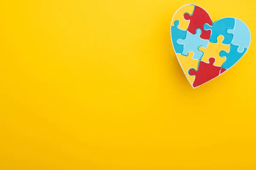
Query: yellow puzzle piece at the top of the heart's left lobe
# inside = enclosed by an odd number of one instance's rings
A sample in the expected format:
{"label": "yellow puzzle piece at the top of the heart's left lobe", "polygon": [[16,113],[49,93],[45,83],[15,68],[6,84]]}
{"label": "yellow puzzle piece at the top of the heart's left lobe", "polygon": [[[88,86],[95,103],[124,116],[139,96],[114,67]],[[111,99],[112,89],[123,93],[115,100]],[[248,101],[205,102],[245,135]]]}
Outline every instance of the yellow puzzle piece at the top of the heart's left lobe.
{"label": "yellow puzzle piece at the top of the heart's left lobe", "polygon": [[180,21],[180,25],[178,26],[178,28],[180,28],[181,30],[186,31],[188,26],[189,26],[189,21],[185,20],[183,15],[185,13],[192,14],[193,11],[194,11],[194,8],[195,8],[194,5],[186,5],[186,6],[183,6],[182,8],[180,8],[180,9],[178,9],[177,13],[174,14],[174,18],[172,20],[172,26],[175,26],[174,22],[178,20],[178,21]]}

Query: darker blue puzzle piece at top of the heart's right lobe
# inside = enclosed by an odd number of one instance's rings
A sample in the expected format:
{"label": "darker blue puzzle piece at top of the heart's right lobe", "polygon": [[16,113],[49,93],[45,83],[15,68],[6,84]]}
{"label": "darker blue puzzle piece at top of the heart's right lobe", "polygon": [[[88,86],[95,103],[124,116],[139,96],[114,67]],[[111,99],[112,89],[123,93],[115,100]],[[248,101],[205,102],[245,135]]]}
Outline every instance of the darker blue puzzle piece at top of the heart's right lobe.
{"label": "darker blue puzzle piece at top of the heart's right lobe", "polygon": [[215,21],[212,26],[209,24],[204,25],[205,30],[211,30],[211,36],[209,41],[212,43],[217,43],[217,37],[219,35],[224,36],[223,44],[230,45],[233,40],[233,34],[228,34],[227,29],[234,29],[235,18],[225,17],[220,20]]}

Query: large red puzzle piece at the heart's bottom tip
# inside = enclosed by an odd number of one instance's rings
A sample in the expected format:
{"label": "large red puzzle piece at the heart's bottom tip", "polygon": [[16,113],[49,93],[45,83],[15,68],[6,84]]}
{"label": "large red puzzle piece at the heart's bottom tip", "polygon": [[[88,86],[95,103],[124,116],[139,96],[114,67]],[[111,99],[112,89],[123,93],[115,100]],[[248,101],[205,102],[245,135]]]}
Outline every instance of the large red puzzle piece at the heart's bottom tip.
{"label": "large red puzzle piece at the heart's bottom tip", "polygon": [[199,62],[197,71],[194,68],[189,70],[189,74],[191,76],[195,76],[195,80],[193,82],[194,88],[210,81],[211,79],[217,77],[220,74],[221,67],[213,65],[214,62],[215,58],[210,57],[209,63],[203,61]]}

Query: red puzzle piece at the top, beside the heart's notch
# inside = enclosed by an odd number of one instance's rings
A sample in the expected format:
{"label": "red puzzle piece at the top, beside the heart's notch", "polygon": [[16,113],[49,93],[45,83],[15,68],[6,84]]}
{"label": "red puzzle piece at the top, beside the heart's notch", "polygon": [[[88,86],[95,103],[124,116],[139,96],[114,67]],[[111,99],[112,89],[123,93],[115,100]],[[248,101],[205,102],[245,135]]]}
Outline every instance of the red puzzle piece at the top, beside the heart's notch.
{"label": "red puzzle piece at the top, beside the heart's notch", "polygon": [[209,40],[211,35],[211,30],[205,30],[204,24],[209,24],[212,26],[212,19],[203,8],[199,6],[195,6],[193,14],[190,16],[188,13],[184,14],[185,20],[190,20],[188,31],[191,34],[195,34],[195,30],[200,28],[202,30],[202,34],[200,35],[201,39]]}

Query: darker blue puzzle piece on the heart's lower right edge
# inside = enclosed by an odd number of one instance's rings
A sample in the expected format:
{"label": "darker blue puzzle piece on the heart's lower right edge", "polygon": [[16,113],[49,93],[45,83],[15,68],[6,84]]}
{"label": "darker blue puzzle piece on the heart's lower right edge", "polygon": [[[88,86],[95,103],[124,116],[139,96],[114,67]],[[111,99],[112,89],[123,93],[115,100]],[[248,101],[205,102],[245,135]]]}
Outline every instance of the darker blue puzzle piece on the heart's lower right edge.
{"label": "darker blue puzzle piece on the heart's lower right edge", "polygon": [[221,57],[226,57],[226,61],[222,65],[223,68],[229,69],[230,67],[232,67],[234,64],[236,64],[236,62],[239,61],[239,59],[241,59],[241,57],[243,57],[243,55],[247,51],[247,48],[244,48],[244,51],[242,53],[239,53],[237,51],[238,48],[238,45],[231,44],[229,53],[223,50],[220,52]]}

